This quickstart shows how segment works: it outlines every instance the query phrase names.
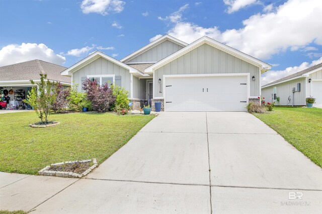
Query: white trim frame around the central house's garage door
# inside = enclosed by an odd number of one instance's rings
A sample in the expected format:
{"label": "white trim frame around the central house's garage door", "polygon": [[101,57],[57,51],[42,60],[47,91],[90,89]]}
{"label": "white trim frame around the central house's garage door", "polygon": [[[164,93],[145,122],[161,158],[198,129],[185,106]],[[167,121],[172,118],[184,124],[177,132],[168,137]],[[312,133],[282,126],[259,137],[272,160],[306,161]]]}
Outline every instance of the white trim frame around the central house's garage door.
{"label": "white trim frame around the central house's garage door", "polygon": [[[250,98],[251,95],[251,84],[250,84],[250,73],[231,73],[231,74],[167,74],[163,75],[163,92],[164,100],[166,102],[166,85],[167,78],[181,78],[181,77],[232,77],[232,76],[247,76],[247,97]],[[248,100],[247,100],[248,102]],[[167,111],[166,105],[164,105],[165,111]]]}

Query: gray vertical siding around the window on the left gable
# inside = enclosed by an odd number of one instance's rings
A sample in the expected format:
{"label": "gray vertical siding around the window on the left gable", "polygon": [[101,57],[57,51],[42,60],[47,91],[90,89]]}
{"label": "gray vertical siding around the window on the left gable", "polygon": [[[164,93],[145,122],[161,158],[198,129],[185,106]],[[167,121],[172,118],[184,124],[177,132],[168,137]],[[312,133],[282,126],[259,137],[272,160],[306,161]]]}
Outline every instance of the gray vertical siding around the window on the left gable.
{"label": "gray vertical siding around the window on the left gable", "polygon": [[131,90],[131,75],[129,70],[109,61],[102,57],[84,66],[83,68],[72,73],[72,85],[78,85],[77,91],[83,92],[82,90],[82,78],[86,79],[88,75],[107,75],[115,74],[115,76],[121,76],[121,87],[125,90]]}

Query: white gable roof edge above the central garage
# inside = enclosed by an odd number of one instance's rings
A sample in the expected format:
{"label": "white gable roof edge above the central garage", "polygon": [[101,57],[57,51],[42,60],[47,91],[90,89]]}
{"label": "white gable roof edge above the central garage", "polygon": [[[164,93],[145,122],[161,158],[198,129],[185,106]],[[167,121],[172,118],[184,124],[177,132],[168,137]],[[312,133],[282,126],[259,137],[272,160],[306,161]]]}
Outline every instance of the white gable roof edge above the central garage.
{"label": "white gable roof edge above the central garage", "polygon": [[153,73],[156,69],[168,64],[169,62],[183,56],[184,54],[192,51],[193,49],[198,48],[199,46],[201,46],[203,44],[210,45],[210,46],[217,48],[223,52],[226,52],[234,57],[244,60],[244,61],[246,61],[250,64],[253,64],[257,67],[260,67],[262,70],[262,73],[264,73],[272,68],[272,66],[270,64],[267,64],[259,59],[256,59],[256,58],[248,55],[248,54],[240,52],[234,48],[231,48],[231,47],[224,45],[216,40],[213,40],[213,39],[210,39],[209,37],[204,36],[204,37],[196,40],[195,42],[191,43],[190,45],[186,46],[185,48],[164,58],[163,60],[158,61],[157,63],[153,64],[152,66],[146,68],[144,71],[145,71],[145,73]]}

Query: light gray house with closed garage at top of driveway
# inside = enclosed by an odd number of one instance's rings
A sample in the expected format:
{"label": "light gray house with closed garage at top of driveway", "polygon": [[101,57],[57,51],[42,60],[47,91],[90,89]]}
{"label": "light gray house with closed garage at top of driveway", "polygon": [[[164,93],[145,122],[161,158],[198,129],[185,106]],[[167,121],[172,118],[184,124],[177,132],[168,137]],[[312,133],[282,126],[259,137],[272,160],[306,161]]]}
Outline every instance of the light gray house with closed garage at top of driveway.
{"label": "light gray house with closed garage at top of driveway", "polygon": [[61,74],[82,91],[87,78],[129,91],[135,109],[162,102],[165,111],[246,111],[259,101],[260,76],[271,65],[208,37],[186,44],[165,35],[118,61],[95,52]]}

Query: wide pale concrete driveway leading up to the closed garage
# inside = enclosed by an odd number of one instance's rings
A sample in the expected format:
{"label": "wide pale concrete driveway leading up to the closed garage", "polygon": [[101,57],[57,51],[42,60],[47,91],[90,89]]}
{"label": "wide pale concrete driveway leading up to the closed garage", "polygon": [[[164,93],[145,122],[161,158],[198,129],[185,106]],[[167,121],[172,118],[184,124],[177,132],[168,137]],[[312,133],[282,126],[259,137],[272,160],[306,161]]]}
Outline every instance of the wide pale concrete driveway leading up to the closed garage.
{"label": "wide pale concrete driveway leading up to the closed garage", "polygon": [[246,112],[163,112],[85,179],[70,182],[32,213],[322,208],[322,169]]}

